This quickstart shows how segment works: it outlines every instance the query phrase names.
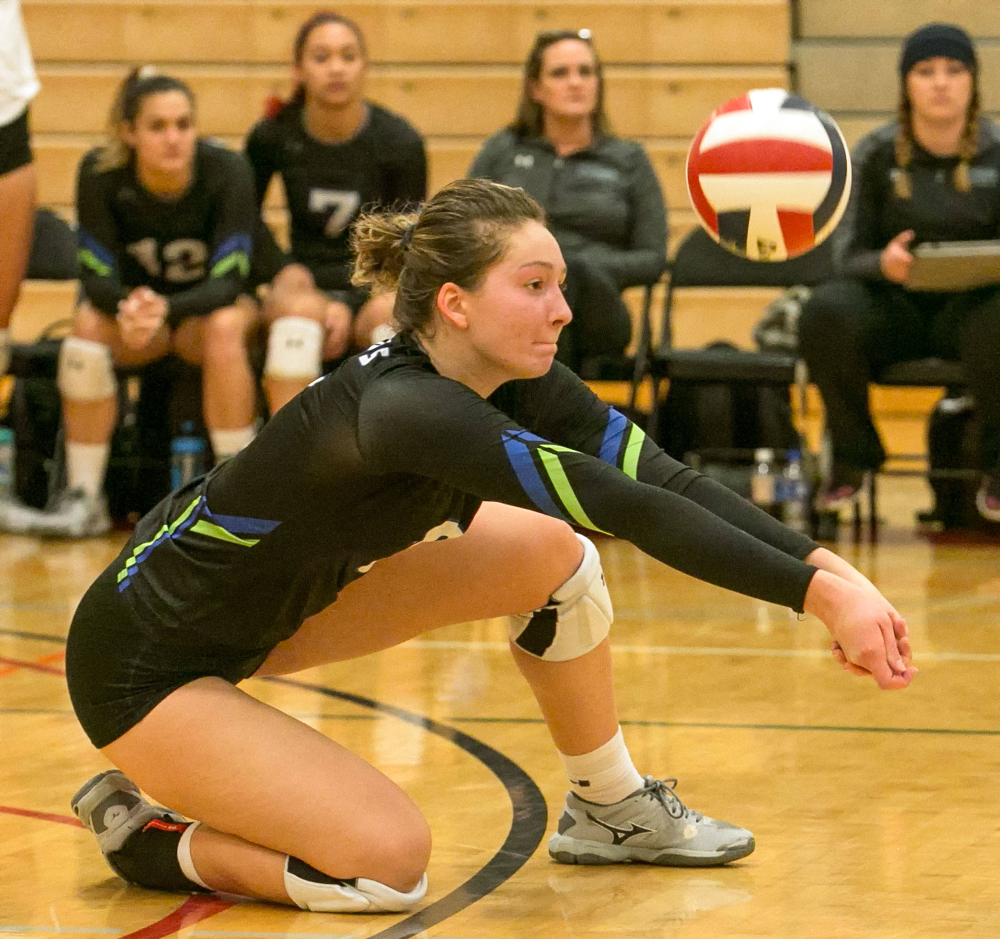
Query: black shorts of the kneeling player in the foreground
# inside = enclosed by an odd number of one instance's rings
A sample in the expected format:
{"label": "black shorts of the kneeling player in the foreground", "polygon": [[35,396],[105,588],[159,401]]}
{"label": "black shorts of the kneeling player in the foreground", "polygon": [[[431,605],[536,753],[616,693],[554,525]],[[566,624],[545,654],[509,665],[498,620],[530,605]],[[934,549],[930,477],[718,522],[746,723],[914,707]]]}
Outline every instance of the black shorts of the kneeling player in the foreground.
{"label": "black shorts of the kneeling player in the foreground", "polygon": [[84,732],[100,749],[139,723],[171,692],[206,676],[234,685],[249,678],[270,649],[181,644],[142,622],[118,593],[113,564],[84,594],[66,643],[66,681]]}

